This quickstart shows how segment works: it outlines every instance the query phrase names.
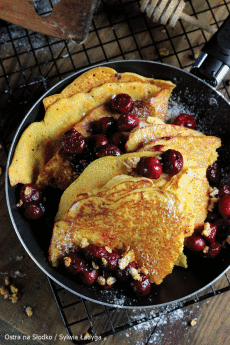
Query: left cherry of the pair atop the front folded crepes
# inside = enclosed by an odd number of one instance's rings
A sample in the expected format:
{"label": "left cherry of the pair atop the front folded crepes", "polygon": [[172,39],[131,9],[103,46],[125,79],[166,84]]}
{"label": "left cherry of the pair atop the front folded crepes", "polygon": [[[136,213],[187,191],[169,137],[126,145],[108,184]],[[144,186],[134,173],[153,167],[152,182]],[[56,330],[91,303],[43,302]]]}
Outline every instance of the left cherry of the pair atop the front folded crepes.
{"label": "left cherry of the pair atop the front folded crepes", "polygon": [[147,178],[158,179],[162,174],[162,164],[155,157],[141,157],[137,173]]}

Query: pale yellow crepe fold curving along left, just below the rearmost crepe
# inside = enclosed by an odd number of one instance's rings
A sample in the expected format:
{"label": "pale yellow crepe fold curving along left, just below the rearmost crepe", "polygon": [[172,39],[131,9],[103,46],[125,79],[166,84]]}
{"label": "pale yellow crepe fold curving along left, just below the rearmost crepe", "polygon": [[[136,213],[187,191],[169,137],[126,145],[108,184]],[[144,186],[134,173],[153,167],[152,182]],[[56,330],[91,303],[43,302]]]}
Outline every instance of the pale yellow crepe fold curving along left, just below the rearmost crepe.
{"label": "pale yellow crepe fold curving along left, just below the rearmost crepe", "polygon": [[48,107],[43,121],[32,123],[23,132],[9,167],[10,184],[34,183],[57,152],[62,135],[90,110],[110,102],[113,95],[126,93],[134,101],[141,101],[156,97],[161,91],[160,87],[150,83],[105,83],[89,93],[59,99]]}

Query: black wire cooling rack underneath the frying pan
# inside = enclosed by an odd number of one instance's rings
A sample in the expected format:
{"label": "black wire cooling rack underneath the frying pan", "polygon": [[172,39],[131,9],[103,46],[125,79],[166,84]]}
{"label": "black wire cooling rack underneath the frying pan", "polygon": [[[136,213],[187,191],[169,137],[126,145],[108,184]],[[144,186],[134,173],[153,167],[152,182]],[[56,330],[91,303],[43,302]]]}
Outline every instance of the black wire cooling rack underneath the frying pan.
{"label": "black wire cooling rack underneath the frying pan", "polygon": [[[41,15],[50,13],[52,2],[58,1],[34,1]],[[56,82],[81,68],[122,59],[154,60],[184,70],[191,68],[209,34],[181,21],[174,29],[153,24],[139,7],[136,0],[98,2],[88,37],[82,45],[0,21],[0,137],[5,152],[33,103]],[[190,0],[187,1],[186,12],[219,27],[230,12],[230,1],[205,0],[197,7]],[[230,99],[229,84],[228,75],[219,85],[220,92],[227,99]],[[218,286],[217,282],[183,303],[138,312],[94,304],[72,295],[50,279],[49,282],[70,337],[76,333],[76,327],[82,330],[82,334],[89,332],[105,337],[229,291],[230,280],[227,274],[225,277],[224,286]],[[85,317],[70,320],[69,309],[73,308],[84,310]],[[76,340],[73,342],[78,343]],[[85,343],[89,342],[85,340]]]}

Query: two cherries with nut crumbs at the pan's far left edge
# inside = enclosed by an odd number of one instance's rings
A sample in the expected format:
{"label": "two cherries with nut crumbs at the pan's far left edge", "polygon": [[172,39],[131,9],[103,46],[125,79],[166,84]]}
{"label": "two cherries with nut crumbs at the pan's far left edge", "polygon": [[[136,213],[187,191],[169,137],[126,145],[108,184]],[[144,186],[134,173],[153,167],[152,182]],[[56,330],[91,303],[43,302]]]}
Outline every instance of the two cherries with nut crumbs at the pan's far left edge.
{"label": "two cherries with nut crumbs at the pan's far left edge", "polygon": [[20,189],[20,200],[25,208],[25,215],[29,219],[39,219],[45,213],[45,206],[40,188],[28,183]]}

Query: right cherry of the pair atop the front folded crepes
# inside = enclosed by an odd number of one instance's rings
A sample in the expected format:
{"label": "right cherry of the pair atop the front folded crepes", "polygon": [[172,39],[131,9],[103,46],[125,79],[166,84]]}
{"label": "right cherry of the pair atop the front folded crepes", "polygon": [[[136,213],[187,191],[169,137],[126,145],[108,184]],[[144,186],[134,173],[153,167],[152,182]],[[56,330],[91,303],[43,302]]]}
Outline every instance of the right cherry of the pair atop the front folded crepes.
{"label": "right cherry of the pair atop the front folded crepes", "polygon": [[161,155],[163,172],[170,175],[178,174],[183,168],[183,156],[176,150],[167,150]]}

